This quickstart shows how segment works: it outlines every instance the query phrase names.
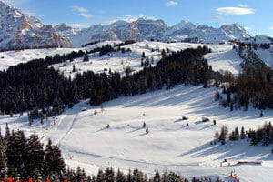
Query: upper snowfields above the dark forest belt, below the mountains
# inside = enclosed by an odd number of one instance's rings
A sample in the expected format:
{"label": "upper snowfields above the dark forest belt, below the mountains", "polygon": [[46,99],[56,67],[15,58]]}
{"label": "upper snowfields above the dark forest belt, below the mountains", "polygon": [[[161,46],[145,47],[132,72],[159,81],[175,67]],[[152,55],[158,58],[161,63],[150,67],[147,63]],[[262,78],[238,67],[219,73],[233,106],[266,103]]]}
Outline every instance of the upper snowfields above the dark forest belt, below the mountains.
{"label": "upper snowfields above the dark forest belt, below the mountains", "polygon": [[[8,66],[14,66],[19,63],[24,63],[31,59],[43,58],[45,56],[54,56],[56,54],[66,54],[77,50],[91,50],[93,48],[100,47],[102,45],[111,44],[114,41],[106,41],[97,45],[90,45],[85,48],[56,48],[56,49],[36,49],[25,51],[8,51],[0,53],[0,69],[6,69]],[[148,45],[148,46],[147,46]],[[124,73],[127,66],[132,67],[135,71],[142,69],[141,56],[145,52],[145,55],[149,57],[150,62],[153,57],[154,64],[161,58],[161,50],[168,48],[170,51],[179,51],[186,48],[197,48],[202,44],[187,44],[187,43],[160,43],[160,42],[138,42],[132,45],[126,45],[124,47],[130,48],[132,52],[110,53],[105,56],[99,56],[98,53],[89,55],[89,62],[83,62],[83,57],[75,59],[73,62],[67,61],[66,63],[60,63],[53,65],[56,69],[64,72],[65,76],[75,76],[77,72],[84,72],[86,70],[92,70],[96,73],[102,73],[104,70],[118,71]],[[241,70],[239,64],[242,59],[232,49],[232,45],[207,45],[213,51],[211,54],[207,54],[205,57],[208,59],[208,64],[216,71],[220,69],[230,71],[233,74],[238,74]],[[157,48],[160,51],[157,51]],[[154,51],[152,52],[152,49]],[[76,67],[76,72],[73,71],[73,66]]]}

